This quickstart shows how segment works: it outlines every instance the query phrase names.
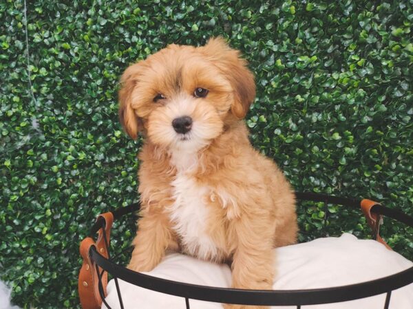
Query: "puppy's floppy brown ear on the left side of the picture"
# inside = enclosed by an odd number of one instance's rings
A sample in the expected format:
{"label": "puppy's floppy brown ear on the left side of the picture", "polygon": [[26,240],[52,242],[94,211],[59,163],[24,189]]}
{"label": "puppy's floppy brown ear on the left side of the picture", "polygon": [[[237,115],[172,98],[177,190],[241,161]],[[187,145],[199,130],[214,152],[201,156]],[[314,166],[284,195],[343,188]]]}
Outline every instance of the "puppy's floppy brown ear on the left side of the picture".
{"label": "puppy's floppy brown ear on the left side of the picture", "polygon": [[125,132],[132,138],[138,137],[138,131],[143,129],[142,120],[132,108],[131,94],[138,82],[142,65],[136,63],[128,67],[120,78],[119,90],[119,120]]}

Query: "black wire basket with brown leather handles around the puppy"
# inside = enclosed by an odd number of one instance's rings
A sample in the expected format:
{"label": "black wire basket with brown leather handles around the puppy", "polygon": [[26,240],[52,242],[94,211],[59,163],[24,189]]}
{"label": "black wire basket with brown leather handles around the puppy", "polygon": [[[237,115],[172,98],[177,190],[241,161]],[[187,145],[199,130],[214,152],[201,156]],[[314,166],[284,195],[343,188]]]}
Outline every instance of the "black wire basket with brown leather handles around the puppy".
{"label": "black wire basket with brown leather handles around the puppy", "polygon": [[[311,201],[324,203],[327,205],[341,205],[361,209],[366,216],[368,225],[372,228],[372,237],[385,244],[388,244],[379,235],[379,228],[382,217],[387,216],[401,222],[409,227],[413,227],[413,218],[403,214],[401,211],[390,209],[377,202],[368,199],[357,200],[353,198],[342,198],[338,196],[328,196],[314,193],[296,193],[298,201]],[[125,214],[138,211],[139,203],[120,207],[112,212],[100,214],[94,223],[89,237],[81,242],[81,255],[83,266],[78,277],[78,290],[83,309],[97,309],[105,303],[107,274],[114,277],[116,290],[118,293],[120,308],[123,306],[122,294],[120,292],[118,279],[125,282],[154,290],[160,293],[182,297],[186,308],[190,308],[189,299],[201,301],[213,301],[223,304],[242,304],[255,306],[301,306],[316,304],[332,304],[341,301],[350,301],[380,295],[386,293],[383,308],[389,308],[392,290],[413,283],[413,266],[405,271],[395,273],[387,277],[381,277],[368,282],[351,284],[347,286],[337,286],[331,288],[316,288],[308,290],[242,290],[235,288],[216,288],[211,286],[199,286],[195,284],[185,284],[167,279],[161,279],[142,273],[131,271],[113,262],[109,253],[109,238],[113,220]],[[325,217],[326,220],[326,217]],[[93,236],[98,234],[96,242]],[[388,247],[390,249],[390,247]],[[390,249],[391,250],[391,249]],[[183,302],[182,302],[183,307]],[[184,307],[183,307],[184,308]],[[127,308],[125,308],[127,309]]]}

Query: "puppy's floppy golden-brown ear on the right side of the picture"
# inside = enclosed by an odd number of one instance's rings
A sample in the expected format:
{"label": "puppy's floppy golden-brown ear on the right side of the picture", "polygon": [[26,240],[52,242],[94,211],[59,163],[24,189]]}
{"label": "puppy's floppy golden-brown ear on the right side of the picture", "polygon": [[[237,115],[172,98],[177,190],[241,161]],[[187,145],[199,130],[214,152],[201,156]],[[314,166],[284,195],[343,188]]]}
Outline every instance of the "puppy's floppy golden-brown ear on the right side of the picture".
{"label": "puppy's floppy golden-brown ear on the right side of the picture", "polygon": [[203,48],[218,69],[220,69],[234,89],[234,102],[231,112],[235,117],[244,118],[255,99],[255,82],[253,73],[246,67],[246,60],[240,52],[231,49],[223,38],[211,38]]}

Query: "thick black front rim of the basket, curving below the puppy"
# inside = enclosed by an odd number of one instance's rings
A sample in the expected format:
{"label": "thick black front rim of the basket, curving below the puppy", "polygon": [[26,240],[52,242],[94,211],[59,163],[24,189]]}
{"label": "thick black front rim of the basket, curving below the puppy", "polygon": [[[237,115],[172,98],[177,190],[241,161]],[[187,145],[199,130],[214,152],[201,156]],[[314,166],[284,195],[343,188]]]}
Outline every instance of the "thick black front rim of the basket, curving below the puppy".
{"label": "thick black front rim of the basket, curving below the puppy", "polygon": [[118,279],[122,279],[130,284],[187,299],[198,299],[226,304],[259,306],[306,306],[330,304],[390,293],[392,290],[413,283],[412,266],[399,273],[381,277],[379,279],[329,288],[304,290],[244,290],[237,288],[219,288],[214,286],[187,284],[131,271],[128,268],[119,266],[105,258],[103,255],[100,255],[94,246],[90,248],[89,254],[98,267],[111,275],[116,274]]}

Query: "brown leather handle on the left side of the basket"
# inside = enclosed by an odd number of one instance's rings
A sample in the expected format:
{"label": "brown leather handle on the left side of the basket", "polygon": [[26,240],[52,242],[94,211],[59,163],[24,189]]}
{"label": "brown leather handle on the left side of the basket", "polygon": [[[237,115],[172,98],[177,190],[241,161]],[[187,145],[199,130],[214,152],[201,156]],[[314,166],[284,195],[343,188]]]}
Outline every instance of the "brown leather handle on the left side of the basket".
{"label": "brown leather handle on the left side of the basket", "polygon": [[[78,293],[83,309],[99,309],[102,305],[102,298],[100,297],[98,288],[98,272],[96,271],[96,264],[89,257],[90,248],[94,246],[101,255],[108,258],[108,248],[106,247],[105,236],[109,247],[110,229],[112,228],[112,223],[114,222],[114,216],[112,212],[106,212],[105,214],[100,214],[96,220],[102,219],[105,220],[105,225],[102,229],[99,229],[98,239],[96,242],[94,242],[92,238],[87,237],[82,240],[80,246],[83,264],[78,277]],[[105,233],[105,236],[103,233]],[[98,267],[98,271],[101,271],[101,268]],[[103,291],[105,295],[107,295],[106,272],[103,273],[101,279]]]}

